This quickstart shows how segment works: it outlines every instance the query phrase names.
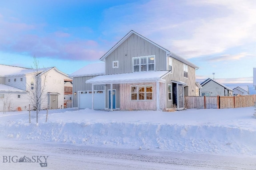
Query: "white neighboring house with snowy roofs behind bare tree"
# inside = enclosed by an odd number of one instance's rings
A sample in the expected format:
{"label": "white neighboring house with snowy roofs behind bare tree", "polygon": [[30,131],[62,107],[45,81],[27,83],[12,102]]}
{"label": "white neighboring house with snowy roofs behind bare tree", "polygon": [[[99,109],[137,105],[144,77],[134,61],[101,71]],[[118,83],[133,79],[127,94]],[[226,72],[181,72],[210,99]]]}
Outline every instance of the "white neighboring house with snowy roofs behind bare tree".
{"label": "white neighboring house with snowy roofs behind bare tree", "polygon": [[15,111],[18,107],[28,110],[29,104],[31,109],[34,109],[30,94],[36,87],[36,77],[39,78],[40,88],[45,85],[44,94],[42,94],[44,100],[41,101],[41,107],[38,109],[46,109],[48,106],[50,109],[63,108],[64,82],[72,81],[68,75],[60,72],[56,67],[34,70],[0,64],[0,98],[2,100],[0,100],[0,111],[3,111],[3,104],[7,99],[10,111]]}

